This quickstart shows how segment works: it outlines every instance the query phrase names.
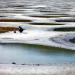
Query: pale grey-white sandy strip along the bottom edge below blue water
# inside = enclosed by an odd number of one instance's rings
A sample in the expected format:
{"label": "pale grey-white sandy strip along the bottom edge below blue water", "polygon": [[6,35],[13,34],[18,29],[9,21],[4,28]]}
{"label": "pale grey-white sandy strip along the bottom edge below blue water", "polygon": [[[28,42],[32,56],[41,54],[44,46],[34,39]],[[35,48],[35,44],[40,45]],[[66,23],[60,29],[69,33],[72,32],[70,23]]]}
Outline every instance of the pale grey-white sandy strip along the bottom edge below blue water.
{"label": "pale grey-white sandy strip along the bottom edge below blue water", "polygon": [[0,64],[0,75],[75,75],[75,64]]}

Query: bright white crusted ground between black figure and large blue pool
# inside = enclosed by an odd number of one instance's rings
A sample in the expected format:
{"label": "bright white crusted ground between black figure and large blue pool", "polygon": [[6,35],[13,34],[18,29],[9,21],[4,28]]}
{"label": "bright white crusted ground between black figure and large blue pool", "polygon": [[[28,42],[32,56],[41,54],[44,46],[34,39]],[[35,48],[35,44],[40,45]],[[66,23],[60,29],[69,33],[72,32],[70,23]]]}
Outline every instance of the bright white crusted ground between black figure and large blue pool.
{"label": "bright white crusted ground between black figure and large blue pool", "polygon": [[[38,36],[39,35],[39,36]],[[67,36],[67,38],[65,38]],[[71,36],[69,38],[69,36]],[[0,34],[0,43],[25,43],[60,47],[75,50],[75,44],[67,39],[75,37],[75,32],[54,32],[43,30],[25,30],[20,32],[7,32]]]}

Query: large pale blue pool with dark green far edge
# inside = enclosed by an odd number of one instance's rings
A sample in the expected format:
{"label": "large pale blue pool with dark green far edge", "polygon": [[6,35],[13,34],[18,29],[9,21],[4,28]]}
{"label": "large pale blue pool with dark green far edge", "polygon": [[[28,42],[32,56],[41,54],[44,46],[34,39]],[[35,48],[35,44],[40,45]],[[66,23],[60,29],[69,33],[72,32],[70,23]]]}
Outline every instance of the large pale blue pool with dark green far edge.
{"label": "large pale blue pool with dark green far edge", "polygon": [[25,44],[0,44],[0,63],[51,64],[75,62],[75,51]]}

